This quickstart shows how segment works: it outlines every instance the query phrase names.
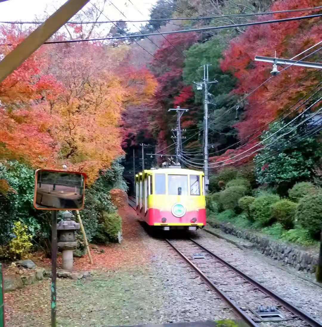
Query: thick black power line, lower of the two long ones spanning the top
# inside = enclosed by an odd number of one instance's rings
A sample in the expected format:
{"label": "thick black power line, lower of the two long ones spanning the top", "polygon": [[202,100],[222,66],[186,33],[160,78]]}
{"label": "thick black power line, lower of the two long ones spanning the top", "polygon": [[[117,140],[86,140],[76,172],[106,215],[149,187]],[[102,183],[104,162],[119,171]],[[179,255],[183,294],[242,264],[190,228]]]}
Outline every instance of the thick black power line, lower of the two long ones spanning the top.
{"label": "thick black power line, lower of the two long ones spanning the top", "polygon": [[131,39],[131,38],[142,38],[144,36],[153,36],[153,35],[162,35],[162,34],[175,34],[175,33],[187,33],[187,32],[197,32],[197,31],[207,31],[207,30],[217,30],[217,29],[225,29],[231,27],[241,27],[241,26],[253,26],[253,25],[262,25],[262,24],[272,24],[272,23],[281,23],[281,22],[289,22],[295,20],[302,19],[310,19],[321,17],[322,14],[317,15],[309,15],[309,16],[300,16],[300,17],[292,17],[292,18],[284,18],[284,19],[275,19],[270,21],[263,22],[253,22],[253,23],[242,23],[242,24],[234,24],[234,25],[225,25],[225,26],[212,26],[212,27],[203,27],[203,28],[193,28],[193,29],[184,29],[179,31],[166,31],[160,33],[147,33],[147,34],[136,34],[136,35],[125,35],[125,36],[114,36],[108,38],[97,38],[97,39],[84,39],[84,40],[68,40],[68,41],[51,41],[44,42],[43,44],[56,44],[56,43],[74,43],[74,42],[89,42],[89,41],[105,41],[105,40],[118,40],[118,39]]}

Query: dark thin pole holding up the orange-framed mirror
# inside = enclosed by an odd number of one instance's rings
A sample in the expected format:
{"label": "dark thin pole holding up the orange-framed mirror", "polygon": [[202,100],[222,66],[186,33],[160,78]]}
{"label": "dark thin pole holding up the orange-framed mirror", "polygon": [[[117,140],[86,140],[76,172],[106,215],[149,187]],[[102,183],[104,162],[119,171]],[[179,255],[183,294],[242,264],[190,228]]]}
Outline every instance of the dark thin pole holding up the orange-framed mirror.
{"label": "dark thin pole holding up the orange-framed mirror", "polygon": [[53,210],[51,212],[51,327],[56,327],[57,313],[57,213],[58,210]]}

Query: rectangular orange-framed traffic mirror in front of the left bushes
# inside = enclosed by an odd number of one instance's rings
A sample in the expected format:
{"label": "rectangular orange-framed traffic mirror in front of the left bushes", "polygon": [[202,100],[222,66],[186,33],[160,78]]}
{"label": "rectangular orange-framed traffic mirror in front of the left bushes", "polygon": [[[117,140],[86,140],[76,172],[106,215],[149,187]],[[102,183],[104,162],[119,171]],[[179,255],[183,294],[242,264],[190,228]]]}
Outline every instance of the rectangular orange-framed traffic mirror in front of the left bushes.
{"label": "rectangular orange-framed traffic mirror in front of the left bushes", "polygon": [[38,210],[81,210],[84,207],[86,174],[38,169],[34,207]]}

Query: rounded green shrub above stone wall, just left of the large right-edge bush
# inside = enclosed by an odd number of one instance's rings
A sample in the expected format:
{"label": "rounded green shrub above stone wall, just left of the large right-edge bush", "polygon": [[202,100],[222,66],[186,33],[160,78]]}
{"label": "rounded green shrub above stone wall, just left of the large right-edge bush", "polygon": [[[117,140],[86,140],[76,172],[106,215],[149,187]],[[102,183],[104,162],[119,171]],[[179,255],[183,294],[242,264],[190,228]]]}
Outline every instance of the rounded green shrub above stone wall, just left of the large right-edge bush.
{"label": "rounded green shrub above stone wall, just left of the large right-edge bush", "polygon": [[290,200],[280,200],[271,205],[272,218],[276,219],[285,229],[294,227],[297,204]]}

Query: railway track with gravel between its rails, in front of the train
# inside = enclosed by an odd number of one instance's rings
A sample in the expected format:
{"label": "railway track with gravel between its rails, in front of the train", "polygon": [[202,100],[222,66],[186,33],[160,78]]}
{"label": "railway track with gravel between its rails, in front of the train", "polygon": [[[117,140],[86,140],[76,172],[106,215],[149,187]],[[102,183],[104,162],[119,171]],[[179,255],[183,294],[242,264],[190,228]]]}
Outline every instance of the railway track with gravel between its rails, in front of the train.
{"label": "railway track with gravel between its rails, in front of the train", "polygon": [[313,317],[195,240],[165,241],[249,326],[322,327]]}

